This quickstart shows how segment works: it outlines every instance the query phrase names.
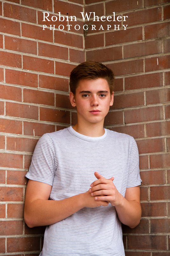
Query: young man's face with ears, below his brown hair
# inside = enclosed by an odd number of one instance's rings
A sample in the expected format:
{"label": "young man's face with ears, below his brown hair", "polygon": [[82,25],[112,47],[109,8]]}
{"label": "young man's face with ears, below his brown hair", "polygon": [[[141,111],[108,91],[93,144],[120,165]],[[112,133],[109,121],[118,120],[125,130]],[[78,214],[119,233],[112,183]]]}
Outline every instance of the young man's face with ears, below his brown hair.
{"label": "young man's face with ears, below his brown hair", "polygon": [[110,95],[106,79],[82,79],[75,95],[70,92],[70,101],[77,108],[78,121],[103,123],[109,107],[113,105],[113,93]]}

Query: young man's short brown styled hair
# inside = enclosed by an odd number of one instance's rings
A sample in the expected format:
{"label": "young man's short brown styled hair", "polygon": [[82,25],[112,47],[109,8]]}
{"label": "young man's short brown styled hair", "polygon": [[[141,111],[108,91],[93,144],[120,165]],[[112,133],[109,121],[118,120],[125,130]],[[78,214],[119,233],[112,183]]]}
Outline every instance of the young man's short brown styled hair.
{"label": "young man's short brown styled hair", "polygon": [[114,90],[114,74],[113,71],[100,62],[85,61],[75,67],[70,73],[70,91],[75,95],[81,79],[106,79],[109,85],[110,94]]}

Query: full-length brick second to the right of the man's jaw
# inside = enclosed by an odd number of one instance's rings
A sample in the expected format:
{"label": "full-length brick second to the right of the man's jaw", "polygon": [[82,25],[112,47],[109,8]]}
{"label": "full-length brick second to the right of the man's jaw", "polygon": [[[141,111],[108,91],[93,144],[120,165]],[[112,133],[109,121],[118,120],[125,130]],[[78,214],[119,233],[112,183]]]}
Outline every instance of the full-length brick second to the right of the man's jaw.
{"label": "full-length brick second to the right of the man's jaw", "polygon": [[141,108],[124,112],[125,123],[138,123],[163,119],[162,107]]}

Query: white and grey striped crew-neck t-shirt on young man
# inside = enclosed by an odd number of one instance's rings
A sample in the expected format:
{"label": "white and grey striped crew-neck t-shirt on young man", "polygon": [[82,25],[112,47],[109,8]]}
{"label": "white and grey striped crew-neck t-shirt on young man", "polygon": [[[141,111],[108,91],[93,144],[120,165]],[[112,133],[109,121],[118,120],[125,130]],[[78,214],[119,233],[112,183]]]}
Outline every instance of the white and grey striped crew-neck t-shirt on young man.
{"label": "white and grey striped crew-neck t-shirt on young man", "polygon": [[[94,172],[114,177],[117,190],[141,184],[138,148],[133,137],[105,129],[88,137],[70,126],[46,133],[38,141],[26,177],[52,186],[50,200],[62,200],[89,190]],[[47,226],[40,256],[124,256],[121,222],[109,204],[84,207]]]}

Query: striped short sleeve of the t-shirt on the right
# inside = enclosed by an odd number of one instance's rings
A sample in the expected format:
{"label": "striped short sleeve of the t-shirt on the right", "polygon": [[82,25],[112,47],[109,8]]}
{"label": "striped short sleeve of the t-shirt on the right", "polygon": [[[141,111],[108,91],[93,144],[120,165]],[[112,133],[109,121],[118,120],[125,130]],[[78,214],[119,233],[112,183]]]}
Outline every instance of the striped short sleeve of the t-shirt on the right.
{"label": "striped short sleeve of the t-shirt on the right", "polygon": [[131,144],[131,155],[129,163],[127,188],[139,186],[141,184],[139,174],[139,153],[136,141],[133,139]]}

